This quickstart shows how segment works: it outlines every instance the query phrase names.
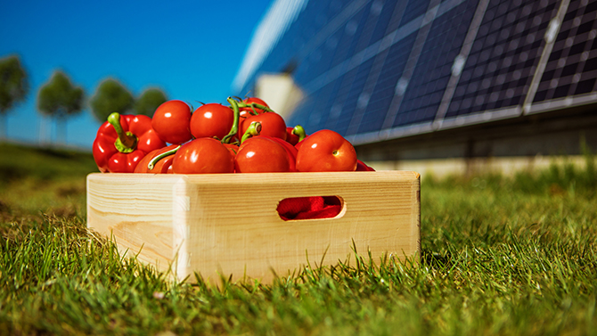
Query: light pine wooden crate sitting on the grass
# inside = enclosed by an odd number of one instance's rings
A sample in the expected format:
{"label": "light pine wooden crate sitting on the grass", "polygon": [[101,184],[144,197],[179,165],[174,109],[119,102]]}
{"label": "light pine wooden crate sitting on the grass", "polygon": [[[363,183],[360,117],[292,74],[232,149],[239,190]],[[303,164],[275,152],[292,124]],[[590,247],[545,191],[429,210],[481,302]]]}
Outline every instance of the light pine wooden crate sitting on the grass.
{"label": "light pine wooden crate sitting on the grass", "polygon": [[[279,217],[282,199],[307,196],[338,196],[342,210]],[[220,275],[270,283],[307,261],[354,260],[353,244],[374,261],[418,258],[420,220],[420,176],[408,171],[87,176],[87,227],[190,282],[197,272],[210,283]]]}

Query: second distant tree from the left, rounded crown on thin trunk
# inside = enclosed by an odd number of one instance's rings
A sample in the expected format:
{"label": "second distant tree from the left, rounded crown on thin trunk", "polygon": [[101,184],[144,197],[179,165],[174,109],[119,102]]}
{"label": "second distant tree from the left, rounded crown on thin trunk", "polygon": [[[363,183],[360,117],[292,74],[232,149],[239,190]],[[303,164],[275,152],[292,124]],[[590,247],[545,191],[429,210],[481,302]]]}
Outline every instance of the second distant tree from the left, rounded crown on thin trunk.
{"label": "second distant tree from the left, rounded crown on thin trunk", "polygon": [[54,71],[52,78],[39,89],[37,110],[56,121],[56,139],[66,142],[66,120],[83,110],[85,91],[73,86],[70,78],[61,70]]}

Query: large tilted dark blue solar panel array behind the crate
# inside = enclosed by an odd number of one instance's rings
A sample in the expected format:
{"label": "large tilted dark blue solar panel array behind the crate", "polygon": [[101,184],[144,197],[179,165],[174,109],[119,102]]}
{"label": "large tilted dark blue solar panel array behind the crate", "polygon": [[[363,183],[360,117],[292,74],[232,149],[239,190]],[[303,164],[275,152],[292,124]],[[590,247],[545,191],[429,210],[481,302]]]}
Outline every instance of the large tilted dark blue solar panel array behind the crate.
{"label": "large tilted dark blue solar panel array behind the crate", "polygon": [[241,88],[292,73],[289,125],[372,143],[597,102],[597,1],[312,0]]}

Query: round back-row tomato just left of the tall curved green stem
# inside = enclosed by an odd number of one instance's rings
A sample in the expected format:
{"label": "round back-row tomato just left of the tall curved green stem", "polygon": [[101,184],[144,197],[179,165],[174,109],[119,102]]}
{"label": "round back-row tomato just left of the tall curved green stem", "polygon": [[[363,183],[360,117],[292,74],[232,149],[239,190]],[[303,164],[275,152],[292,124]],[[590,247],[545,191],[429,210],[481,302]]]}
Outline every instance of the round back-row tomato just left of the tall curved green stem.
{"label": "round back-row tomato just left of the tall curved green stem", "polygon": [[195,138],[217,137],[222,139],[233,127],[233,110],[219,103],[200,106],[192,113],[191,134]]}

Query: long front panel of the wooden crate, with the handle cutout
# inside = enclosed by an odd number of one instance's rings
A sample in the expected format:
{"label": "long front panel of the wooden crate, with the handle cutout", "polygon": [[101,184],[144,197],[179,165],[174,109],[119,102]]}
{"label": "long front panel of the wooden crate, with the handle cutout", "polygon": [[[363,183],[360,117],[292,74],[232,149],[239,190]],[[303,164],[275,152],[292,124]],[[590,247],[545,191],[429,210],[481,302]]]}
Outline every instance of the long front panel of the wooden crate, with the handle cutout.
{"label": "long front panel of the wooden crate, with the handle cutout", "polygon": [[[412,172],[258,174],[220,181],[187,176],[177,184],[175,232],[181,233],[177,274],[243,275],[269,282],[311,263],[336,264],[356,251],[373,258],[419,252],[419,175]],[[339,196],[336,218],[283,221],[279,201],[290,197]],[[184,210],[182,210],[184,209]],[[353,264],[354,265],[354,264]]]}

